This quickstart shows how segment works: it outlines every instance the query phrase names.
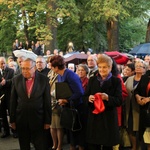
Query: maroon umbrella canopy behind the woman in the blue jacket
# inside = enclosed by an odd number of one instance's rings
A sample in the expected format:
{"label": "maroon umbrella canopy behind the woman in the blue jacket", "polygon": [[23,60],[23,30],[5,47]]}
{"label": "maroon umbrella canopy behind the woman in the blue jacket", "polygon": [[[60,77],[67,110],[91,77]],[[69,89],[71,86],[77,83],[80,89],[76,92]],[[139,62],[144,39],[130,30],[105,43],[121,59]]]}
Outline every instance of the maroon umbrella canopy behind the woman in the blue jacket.
{"label": "maroon umbrella canopy behind the woman in the blue jacket", "polygon": [[74,63],[75,65],[78,65],[80,63],[86,62],[87,58],[88,58],[87,54],[81,54],[79,52],[68,53],[68,54],[64,55],[64,59],[67,64]]}

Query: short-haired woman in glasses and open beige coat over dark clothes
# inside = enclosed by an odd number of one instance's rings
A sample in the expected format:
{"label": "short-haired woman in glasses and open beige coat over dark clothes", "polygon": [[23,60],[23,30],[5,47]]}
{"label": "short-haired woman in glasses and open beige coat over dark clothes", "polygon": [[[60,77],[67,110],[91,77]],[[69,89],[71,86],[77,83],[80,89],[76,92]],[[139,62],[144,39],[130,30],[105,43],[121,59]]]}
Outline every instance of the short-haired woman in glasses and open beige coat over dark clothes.
{"label": "short-haired woman in glasses and open beige coat over dark clothes", "polygon": [[135,62],[135,75],[128,77],[125,82],[128,91],[128,97],[125,99],[125,126],[128,129],[129,137],[132,144],[132,150],[137,150],[137,133],[139,131],[139,105],[134,97],[134,90],[136,89],[141,76],[145,74],[147,65],[143,60]]}

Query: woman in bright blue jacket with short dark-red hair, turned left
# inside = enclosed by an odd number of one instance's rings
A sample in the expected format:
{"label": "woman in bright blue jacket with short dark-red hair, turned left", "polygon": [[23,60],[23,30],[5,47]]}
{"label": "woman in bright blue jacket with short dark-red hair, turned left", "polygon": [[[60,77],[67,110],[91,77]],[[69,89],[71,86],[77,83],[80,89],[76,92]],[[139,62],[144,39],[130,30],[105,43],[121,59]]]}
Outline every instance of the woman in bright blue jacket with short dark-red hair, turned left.
{"label": "woman in bright blue jacket with short dark-red hair, turned left", "polygon": [[[70,103],[74,104],[74,107],[78,110],[81,123],[83,122],[83,100],[82,95],[84,93],[80,78],[73,71],[65,67],[64,58],[60,55],[53,56],[50,60],[51,69],[58,74],[58,82],[67,82],[72,95],[68,99],[58,99],[60,106],[67,106]],[[65,89],[64,89],[65,90]],[[70,133],[70,150],[75,150],[76,146],[79,146],[79,150],[84,149],[84,129],[80,131],[71,131]]]}

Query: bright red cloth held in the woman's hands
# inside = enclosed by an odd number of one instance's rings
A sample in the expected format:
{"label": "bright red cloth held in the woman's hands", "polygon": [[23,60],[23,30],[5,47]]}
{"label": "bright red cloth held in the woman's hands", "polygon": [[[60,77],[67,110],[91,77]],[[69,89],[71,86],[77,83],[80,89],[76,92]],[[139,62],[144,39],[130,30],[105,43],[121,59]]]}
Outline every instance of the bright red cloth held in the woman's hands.
{"label": "bright red cloth held in the woman's hands", "polygon": [[94,95],[94,97],[95,97],[95,100],[94,100],[95,109],[93,110],[92,113],[99,114],[105,110],[105,105],[104,105],[104,102],[103,102],[101,96],[98,93],[96,93]]}

